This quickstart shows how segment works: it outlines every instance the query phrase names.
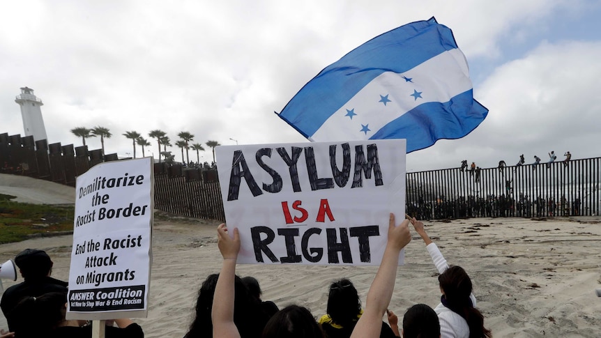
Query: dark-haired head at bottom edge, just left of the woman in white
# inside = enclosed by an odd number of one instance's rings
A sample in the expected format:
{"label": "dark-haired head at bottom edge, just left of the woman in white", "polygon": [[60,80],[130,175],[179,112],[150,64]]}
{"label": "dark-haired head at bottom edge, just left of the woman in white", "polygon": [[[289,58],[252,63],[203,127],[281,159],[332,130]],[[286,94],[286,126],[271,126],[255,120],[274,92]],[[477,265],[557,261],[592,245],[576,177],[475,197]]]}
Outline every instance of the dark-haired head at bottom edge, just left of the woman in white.
{"label": "dark-haired head at bottom edge, just left of the woman in white", "polygon": [[403,316],[403,338],[439,338],[441,325],[432,307],[416,304]]}

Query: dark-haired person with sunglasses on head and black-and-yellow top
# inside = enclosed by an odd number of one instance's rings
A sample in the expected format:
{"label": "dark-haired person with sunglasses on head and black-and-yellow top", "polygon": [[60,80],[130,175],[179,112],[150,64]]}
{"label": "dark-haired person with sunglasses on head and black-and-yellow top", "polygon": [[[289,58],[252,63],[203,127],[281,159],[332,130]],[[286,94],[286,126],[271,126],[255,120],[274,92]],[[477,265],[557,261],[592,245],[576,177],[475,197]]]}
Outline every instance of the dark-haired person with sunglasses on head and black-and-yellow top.
{"label": "dark-haired person with sunglasses on head and black-and-yellow top", "polygon": [[[349,338],[363,310],[357,289],[349,279],[340,279],[330,285],[327,314],[319,324],[328,338]],[[380,337],[397,337],[388,324],[382,321]]]}

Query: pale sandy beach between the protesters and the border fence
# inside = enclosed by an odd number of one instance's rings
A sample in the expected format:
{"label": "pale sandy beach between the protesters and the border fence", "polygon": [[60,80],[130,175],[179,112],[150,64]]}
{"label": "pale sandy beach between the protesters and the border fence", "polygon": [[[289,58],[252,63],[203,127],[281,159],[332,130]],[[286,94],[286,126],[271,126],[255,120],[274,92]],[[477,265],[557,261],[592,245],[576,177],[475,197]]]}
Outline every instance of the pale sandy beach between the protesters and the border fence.
{"label": "pale sandy beach between the protesters and the border fence", "polygon": [[[0,184],[1,185],[1,184]],[[71,188],[73,189],[73,188]],[[8,193],[8,192],[6,192]],[[220,270],[217,221],[155,217],[148,318],[136,318],[146,337],[183,337],[201,282]],[[494,337],[598,337],[601,332],[601,217],[531,220],[473,218],[426,222],[451,264],[467,270],[478,308]],[[44,249],[53,277],[68,280],[72,236],[33,238],[0,245],[0,261],[27,247]],[[362,300],[376,267],[238,265],[238,275],[259,279],[264,300],[297,303],[314,316],[325,313],[334,279],[347,277]],[[402,317],[418,302],[435,307],[436,268],[413,231],[399,268],[390,309]],[[4,279],[3,286],[22,282]],[[0,316],[0,328],[6,320]]]}

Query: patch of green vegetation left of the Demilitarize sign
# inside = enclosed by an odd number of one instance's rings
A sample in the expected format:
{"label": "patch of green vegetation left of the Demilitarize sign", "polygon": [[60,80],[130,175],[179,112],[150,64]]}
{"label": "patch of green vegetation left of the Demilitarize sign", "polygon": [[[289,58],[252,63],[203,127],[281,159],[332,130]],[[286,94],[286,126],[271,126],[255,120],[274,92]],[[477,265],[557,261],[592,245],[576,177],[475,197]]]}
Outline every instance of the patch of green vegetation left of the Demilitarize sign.
{"label": "patch of green vegetation left of the Demilitarize sign", "polygon": [[74,206],[50,206],[10,201],[0,194],[0,244],[20,242],[31,236],[73,231]]}

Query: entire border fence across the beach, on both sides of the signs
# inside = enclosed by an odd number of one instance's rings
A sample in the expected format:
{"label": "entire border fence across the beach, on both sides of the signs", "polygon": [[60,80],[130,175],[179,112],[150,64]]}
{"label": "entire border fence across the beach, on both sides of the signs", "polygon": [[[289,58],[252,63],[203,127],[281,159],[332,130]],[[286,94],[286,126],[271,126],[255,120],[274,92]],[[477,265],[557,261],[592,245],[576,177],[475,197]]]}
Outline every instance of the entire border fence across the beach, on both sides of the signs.
{"label": "entire border fence across the beach, on both sides of the signs", "polygon": [[[0,134],[0,173],[75,186],[75,178],[100,162],[119,160],[87,146],[47,144],[32,136]],[[225,220],[217,170],[154,164],[158,210]],[[406,174],[406,211],[420,220],[462,217],[599,215],[601,158],[551,164]]]}

